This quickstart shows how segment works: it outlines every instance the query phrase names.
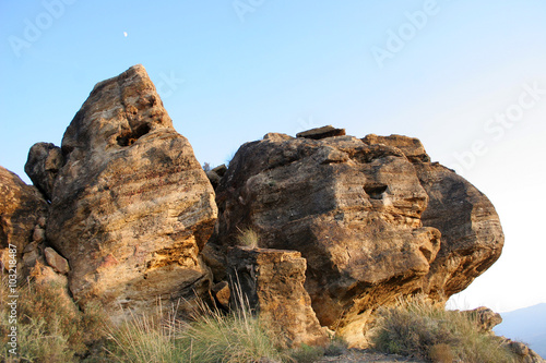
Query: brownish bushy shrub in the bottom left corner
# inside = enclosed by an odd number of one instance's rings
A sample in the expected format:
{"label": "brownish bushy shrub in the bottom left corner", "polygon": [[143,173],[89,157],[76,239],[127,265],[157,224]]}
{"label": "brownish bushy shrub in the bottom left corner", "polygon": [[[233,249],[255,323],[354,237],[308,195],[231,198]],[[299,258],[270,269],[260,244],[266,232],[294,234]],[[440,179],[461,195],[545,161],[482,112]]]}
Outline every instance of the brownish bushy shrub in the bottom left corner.
{"label": "brownish bushy shrub in the bottom left corner", "polygon": [[[8,334],[11,301],[7,279],[0,288],[0,356],[10,362]],[[17,356],[21,362],[79,362],[90,346],[105,336],[104,316],[97,305],[82,312],[72,301],[62,299],[63,287],[55,282],[36,283],[28,279],[17,287]]]}

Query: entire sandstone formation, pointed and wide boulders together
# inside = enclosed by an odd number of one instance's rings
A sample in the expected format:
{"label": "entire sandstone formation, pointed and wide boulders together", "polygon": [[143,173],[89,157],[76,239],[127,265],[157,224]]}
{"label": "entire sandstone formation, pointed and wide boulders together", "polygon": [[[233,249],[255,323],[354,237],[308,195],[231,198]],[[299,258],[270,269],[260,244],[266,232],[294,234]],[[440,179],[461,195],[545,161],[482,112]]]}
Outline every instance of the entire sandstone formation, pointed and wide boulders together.
{"label": "entire sandstone formation, pointed and wide boulders together", "polygon": [[[0,202],[16,205],[2,205],[0,242],[16,243],[28,266],[41,258],[68,274],[75,300],[100,301],[114,320],[157,298],[211,297],[211,271],[227,307],[226,281],[240,277],[285,346],[323,342],[322,325],[363,347],[378,306],[449,298],[499,257],[490,202],[418,140],[332,126],[297,136],[268,134],[205,174],[133,66],[95,86],[61,147],[31,149],[25,171],[50,201],[47,235],[45,199],[13,180],[16,196],[2,190],[13,178],[0,169]],[[248,229],[262,249],[229,249]]]}

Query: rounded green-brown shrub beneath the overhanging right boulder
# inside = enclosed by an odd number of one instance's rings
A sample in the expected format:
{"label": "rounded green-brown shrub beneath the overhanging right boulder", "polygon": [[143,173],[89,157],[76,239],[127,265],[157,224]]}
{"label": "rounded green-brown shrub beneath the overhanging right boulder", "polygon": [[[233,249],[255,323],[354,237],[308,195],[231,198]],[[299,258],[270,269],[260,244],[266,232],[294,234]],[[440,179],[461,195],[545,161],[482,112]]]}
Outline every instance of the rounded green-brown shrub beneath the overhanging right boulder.
{"label": "rounded green-brown shrub beneath the overhanging right boulder", "polygon": [[372,341],[379,351],[434,362],[518,362],[496,336],[479,332],[473,319],[416,297],[380,310]]}

